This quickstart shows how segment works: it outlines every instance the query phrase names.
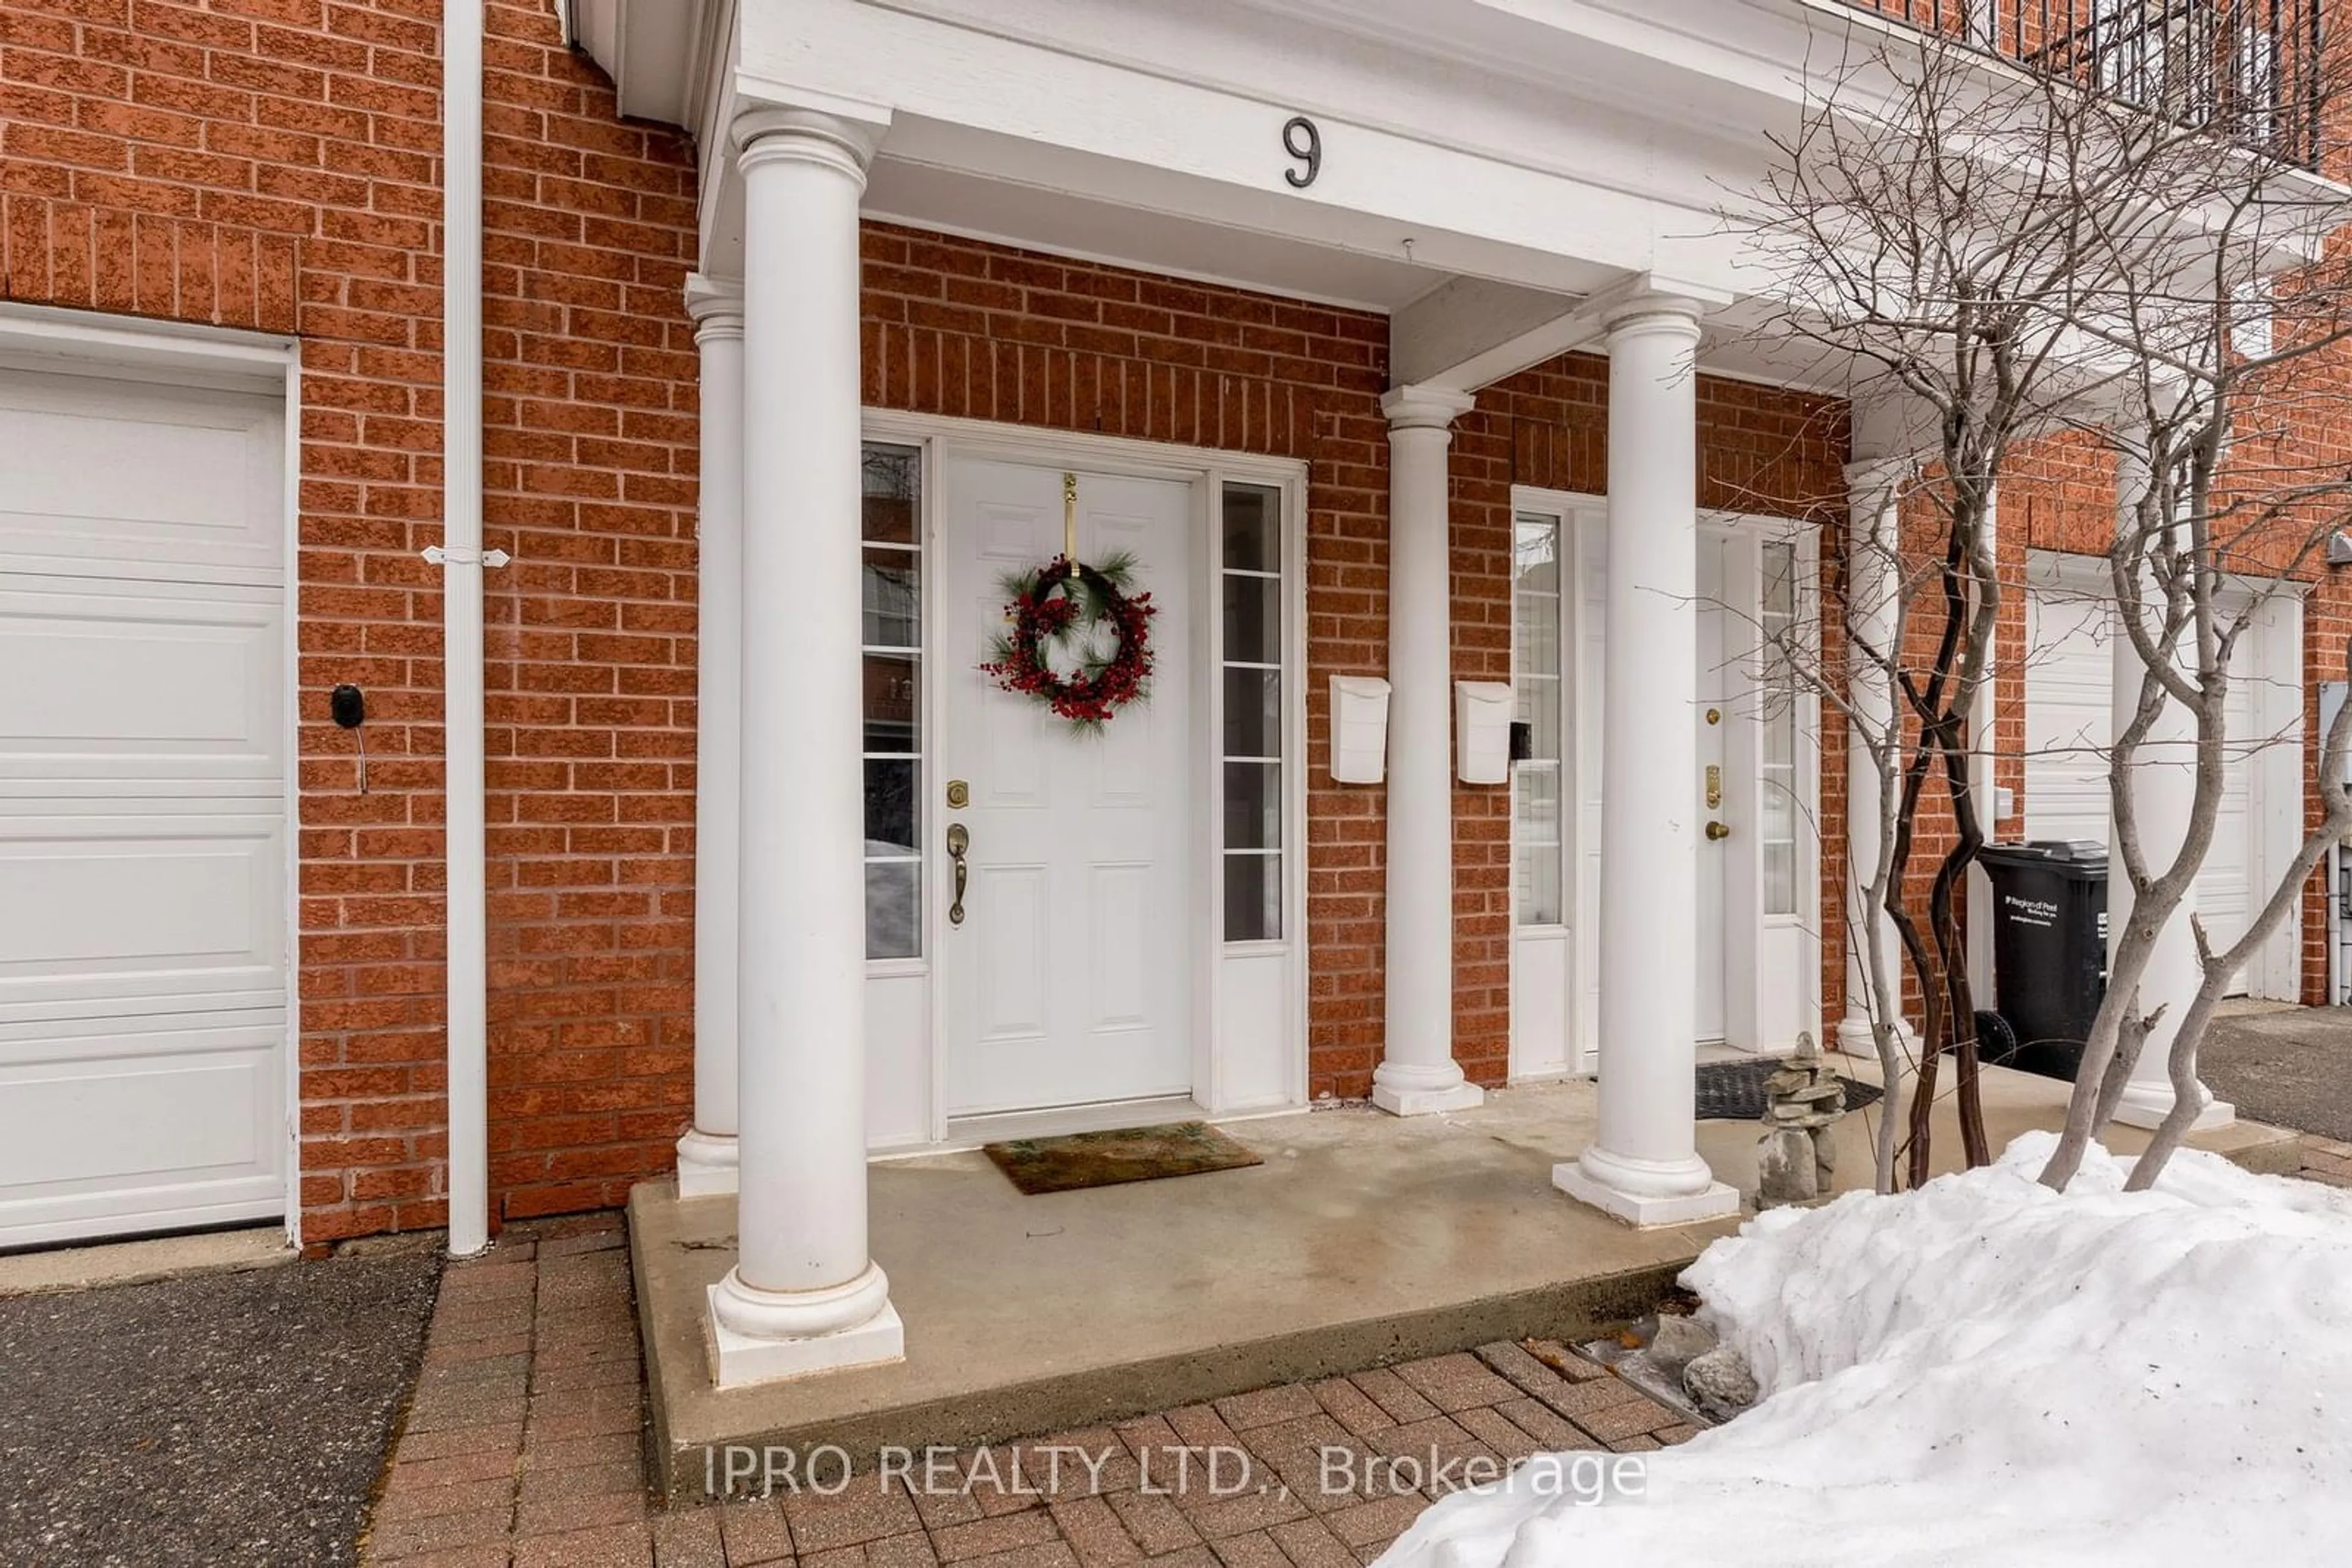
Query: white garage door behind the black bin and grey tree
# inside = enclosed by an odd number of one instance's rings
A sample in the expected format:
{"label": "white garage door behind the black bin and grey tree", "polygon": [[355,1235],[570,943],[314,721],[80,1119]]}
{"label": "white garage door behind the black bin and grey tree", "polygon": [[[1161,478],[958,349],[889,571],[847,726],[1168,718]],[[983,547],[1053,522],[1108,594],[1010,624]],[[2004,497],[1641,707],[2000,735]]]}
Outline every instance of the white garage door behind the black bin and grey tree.
{"label": "white garage door behind the black bin and grey tree", "polygon": [[[2100,564],[2103,569],[2103,564]],[[2107,842],[2107,762],[2114,644],[2107,607],[2074,588],[2034,588],[2025,602],[2025,837]],[[2213,846],[2197,872],[2197,912],[2216,947],[2234,943],[2249,917],[2258,856],[2253,795],[2270,757],[2256,741],[2260,679],[2249,637],[2232,658],[2227,738]],[[2286,752],[2296,752],[2288,748]],[[2293,762],[2288,766],[2296,766]]]}

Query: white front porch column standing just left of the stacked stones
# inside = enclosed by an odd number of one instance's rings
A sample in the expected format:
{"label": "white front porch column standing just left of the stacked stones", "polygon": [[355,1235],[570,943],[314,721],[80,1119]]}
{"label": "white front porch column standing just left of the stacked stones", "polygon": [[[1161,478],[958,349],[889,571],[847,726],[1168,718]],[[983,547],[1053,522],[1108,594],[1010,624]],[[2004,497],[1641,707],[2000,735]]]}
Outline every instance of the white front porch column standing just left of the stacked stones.
{"label": "white front porch column standing just left of the stacked stones", "polygon": [[1738,1213],[1698,1159],[1698,306],[1609,322],[1609,663],[1602,696],[1599,1128],[1552,1168],[1635,1225]]}

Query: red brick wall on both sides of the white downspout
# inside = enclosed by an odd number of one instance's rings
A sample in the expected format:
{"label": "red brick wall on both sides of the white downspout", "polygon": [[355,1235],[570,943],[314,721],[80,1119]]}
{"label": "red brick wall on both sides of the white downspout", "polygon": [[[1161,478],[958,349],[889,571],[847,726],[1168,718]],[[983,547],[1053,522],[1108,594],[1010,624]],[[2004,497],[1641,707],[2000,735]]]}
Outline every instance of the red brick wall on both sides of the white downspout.
{"label": "red brick wall on both sides of the white downspout", "polygon": [[[437,14],[0,7],[0,296],[301,336],[308,1241],[445,1220]],[[694,188],[546,2],[492,2],[485,92],[492,1182],[539,1213],[619,1201],[689,1095]]]}

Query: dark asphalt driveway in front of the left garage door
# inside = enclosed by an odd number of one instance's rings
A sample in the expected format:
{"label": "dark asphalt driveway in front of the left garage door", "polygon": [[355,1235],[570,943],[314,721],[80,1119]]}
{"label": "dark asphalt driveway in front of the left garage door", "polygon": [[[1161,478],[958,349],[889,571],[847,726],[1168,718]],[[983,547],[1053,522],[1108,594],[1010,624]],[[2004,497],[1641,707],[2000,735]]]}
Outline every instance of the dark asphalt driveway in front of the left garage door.
{"label": "dark asphalt driveway in front of the left garage door", "polygon": [[0,1563],[355,1561],[440,1255],[0,1300]]}

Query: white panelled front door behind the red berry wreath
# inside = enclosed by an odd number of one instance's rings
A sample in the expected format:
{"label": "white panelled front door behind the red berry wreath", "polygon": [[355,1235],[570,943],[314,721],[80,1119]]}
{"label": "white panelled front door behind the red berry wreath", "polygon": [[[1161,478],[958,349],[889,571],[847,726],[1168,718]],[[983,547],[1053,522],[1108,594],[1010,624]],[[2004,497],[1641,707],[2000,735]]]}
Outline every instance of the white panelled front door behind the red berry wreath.
{"label": "white panelled front door behind the red berry wreath", "polygon": [[946,837],[969,835],[962,922],[938,952],[948,1114],[1190,1093],[1192,487],[1077,475],[1080,559],[1131,555],[1157,609],[1150,696],[1080,731],[978,670],[1004,578],[1063,548],[1063,470],[950,458],[943,484],[946,719],[927,832],[948,900]]}

